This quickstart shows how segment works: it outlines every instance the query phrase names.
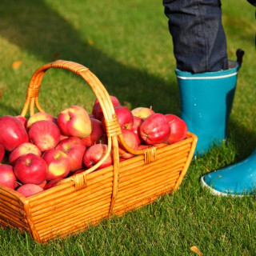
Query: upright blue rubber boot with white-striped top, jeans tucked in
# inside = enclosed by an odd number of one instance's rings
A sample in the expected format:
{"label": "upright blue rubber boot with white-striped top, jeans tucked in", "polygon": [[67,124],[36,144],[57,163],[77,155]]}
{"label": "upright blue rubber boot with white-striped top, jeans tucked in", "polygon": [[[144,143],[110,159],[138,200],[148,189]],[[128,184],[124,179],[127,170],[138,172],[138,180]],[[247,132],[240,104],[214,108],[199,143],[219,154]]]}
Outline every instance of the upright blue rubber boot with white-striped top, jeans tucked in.
{"label": "upright blue rubber boot with white-striped top, jeans tucked in", "polygon": [[242,62],[230,61],[229,70],[192,74],[176,69],[181,118],[198,136],[196,154],[205,154],[226,138],[226,126]]}

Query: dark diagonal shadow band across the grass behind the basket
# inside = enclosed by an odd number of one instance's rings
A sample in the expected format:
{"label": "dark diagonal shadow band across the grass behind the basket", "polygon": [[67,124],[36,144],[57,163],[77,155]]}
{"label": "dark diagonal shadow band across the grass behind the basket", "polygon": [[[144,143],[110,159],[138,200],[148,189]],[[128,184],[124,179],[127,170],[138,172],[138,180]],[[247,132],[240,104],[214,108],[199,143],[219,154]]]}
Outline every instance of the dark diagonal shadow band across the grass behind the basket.
{"label": "dark diagonal shadow band across the grass behind the basket", "polygon": [[45,63],[61,58],[89,67],[109,94],[122,95],[121,102],[130,102],[134,107],[154,106],[162,113],[179,113],[176,81],[167,84],[154,75],[124,66],[83,42],[74,26],[42,0],[2,0],[0,35]]}

